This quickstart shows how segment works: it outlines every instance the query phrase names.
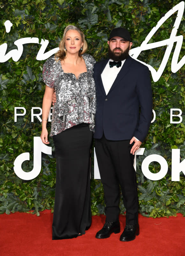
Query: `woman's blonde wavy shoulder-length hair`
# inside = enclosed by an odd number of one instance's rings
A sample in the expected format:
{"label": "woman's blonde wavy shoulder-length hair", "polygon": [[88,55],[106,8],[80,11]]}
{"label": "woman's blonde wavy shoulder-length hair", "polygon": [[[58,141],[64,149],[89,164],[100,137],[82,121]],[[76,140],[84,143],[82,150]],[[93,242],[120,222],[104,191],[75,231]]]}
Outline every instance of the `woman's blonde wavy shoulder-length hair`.
{"label": "woman's blonde wavy shoulder-length hair", "polygon": [[84,43],[83,46],[82,46],[82,50],[79,50],[79,52],[78,52],[78,56],[80,58],[82,58],[82,54],[84,54],[86,52],[86,50],[87,50],[87,42],[85,41],[84,33],[79,28],[77,28],[77,27],[75,27],[73,25],[69,25],[69,26],[67,26],[64,29],[63,38],[62,38],[62,40],[59,43],[59,50],[55,54],[55,58],[58,57],[59,58],[58,60],[64,60],[66,58],[65,35],[66,35],[67,31],[69,31],[69,30],[76,30],[76,31],[78,31],[78,33],[80,34],[80,36],[82,38],[82,42]]}

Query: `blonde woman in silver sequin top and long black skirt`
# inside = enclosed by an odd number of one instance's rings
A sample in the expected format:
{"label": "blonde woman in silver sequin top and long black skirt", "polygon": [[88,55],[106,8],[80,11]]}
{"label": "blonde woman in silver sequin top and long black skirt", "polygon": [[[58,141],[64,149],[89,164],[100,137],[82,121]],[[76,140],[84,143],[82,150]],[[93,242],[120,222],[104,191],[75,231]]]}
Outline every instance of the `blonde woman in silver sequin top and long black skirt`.
{"label": "blonde woman in silver sequin top and long black skirt", "polygon": [[95,60],[84,54],[86,49],[82,31],[67,26],[59,51],[43,65],[47,86],[42,103],[41,140],[45,144],[49,144],[46,124],[56,91],[50,133],[56,153],[53,240],[85,234],[91,225],[89,167],[96,94]]}

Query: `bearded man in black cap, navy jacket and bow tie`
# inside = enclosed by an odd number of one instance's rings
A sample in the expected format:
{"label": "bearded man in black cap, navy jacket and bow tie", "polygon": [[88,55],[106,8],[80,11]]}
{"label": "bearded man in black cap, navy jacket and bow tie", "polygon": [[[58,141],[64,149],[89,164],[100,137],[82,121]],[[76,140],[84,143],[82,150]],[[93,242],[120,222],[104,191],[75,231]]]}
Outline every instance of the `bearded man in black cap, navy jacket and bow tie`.
{"label": "bearded man in black cap, navy jacket and bow tie", "polygon": [[109,60],[94,66],[97,94],[95,151],[105,194],[106,222],[96,238],[120,232],[119,199],[122,189],[126,227],[120,241],[139,235],[134,154],[144,141],[152,120],[149,69],[129,56],[129,31],[115,28],[108,38]]}

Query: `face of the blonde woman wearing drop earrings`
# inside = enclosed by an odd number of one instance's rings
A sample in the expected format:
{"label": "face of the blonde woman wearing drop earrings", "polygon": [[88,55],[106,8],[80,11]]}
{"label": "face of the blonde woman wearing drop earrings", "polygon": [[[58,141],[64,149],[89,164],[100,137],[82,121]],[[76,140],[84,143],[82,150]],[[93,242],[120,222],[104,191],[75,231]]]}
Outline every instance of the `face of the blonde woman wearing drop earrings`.
{"label": "face of the blonde woman wearing drop earrings", "polygon": [[82,37],[80,33],[76,30],[68,30],[65,34],[65,47],[69,53],[77,53],[82,47]]}

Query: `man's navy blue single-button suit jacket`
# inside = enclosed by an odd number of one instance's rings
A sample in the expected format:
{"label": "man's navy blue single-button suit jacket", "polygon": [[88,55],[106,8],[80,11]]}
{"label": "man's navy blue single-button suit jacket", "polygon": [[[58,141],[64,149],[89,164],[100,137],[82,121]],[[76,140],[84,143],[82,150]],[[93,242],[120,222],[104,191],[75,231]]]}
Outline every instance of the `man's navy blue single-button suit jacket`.
{"label": "man's navy blue single-button suit jacket", "polygon": [[132,59],[125,60],[106,95],[101,73],[108,60],[94,65],[97,109],[94,138],[105,134],[107,140],[144,141],[152,120],[152,88],[148,67]]}

